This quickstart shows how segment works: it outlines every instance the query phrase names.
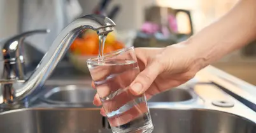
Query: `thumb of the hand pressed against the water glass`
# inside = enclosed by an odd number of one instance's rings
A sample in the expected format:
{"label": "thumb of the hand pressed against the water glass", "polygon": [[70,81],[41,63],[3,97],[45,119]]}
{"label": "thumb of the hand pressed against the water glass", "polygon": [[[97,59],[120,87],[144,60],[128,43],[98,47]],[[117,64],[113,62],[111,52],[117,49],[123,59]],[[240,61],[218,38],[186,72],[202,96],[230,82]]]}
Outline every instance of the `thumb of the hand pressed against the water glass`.
{"label": "thumb of the hand pressed against the water glass", "polygon": [[134,79],[129,87],[132,94],[138,96],[143,94],[150,87],[161,72],[161,66],[157,62],[158,61],[153,61],[146,66],[145,70],[137,75],[136,79]]}

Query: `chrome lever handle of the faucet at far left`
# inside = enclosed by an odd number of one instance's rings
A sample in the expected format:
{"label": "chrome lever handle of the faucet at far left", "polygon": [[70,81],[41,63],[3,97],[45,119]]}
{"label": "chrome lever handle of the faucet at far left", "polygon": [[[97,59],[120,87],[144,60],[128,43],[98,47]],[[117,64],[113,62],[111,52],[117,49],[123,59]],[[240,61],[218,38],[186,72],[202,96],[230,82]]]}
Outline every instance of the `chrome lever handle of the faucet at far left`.
{"label": "chrome lever handle of the faucet at far left", "polygon": [[[24,66],[24,39],[34,34],[46,34],[50,30],[31,30],[22,34],[14,35],[4,41],[0,42],[2,50],[3,70],[0,70],[1,79],[18,79],[24,80],[25,66]],[[0,55],[1,56],[1,55]]]}

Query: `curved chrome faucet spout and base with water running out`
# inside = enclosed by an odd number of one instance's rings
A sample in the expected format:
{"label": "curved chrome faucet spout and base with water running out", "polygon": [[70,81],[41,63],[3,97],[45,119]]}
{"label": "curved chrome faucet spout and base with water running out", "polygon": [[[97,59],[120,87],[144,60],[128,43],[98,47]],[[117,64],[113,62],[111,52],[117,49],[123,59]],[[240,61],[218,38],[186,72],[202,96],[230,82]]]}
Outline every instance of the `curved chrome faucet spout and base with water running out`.
{"label": "curved chrome faucet spout and base with water running out", "polygon": [[[113,31],[113,27],[115,27],[115,23],[110,18],[102,15],[86,15],[69,23],[57,35],[48,52],[43,56],[43,59],[36,66],[34,72],[27,79],[22,75],[24,73],[22,61],[16,60],[17,72],[15,73],[22,74],[12,75],[12,77],[5,76],[4,74],[1,75],[3,78],[0,80],[0,108],[6,108],[8,110],[20,108],[20,106],[24,106],[25,103],[28,103],[36,96],[41,91],[41,88],[53,72],[55,66],[59,63],[66,51],[68,51],[71,43],[85,29],[90,28],[96,30],[98,35],[107,35]],[[17,51],[16,54],[18,53]],[[10,69],[7,67],[4,67],[3,71],[10,73]]]}

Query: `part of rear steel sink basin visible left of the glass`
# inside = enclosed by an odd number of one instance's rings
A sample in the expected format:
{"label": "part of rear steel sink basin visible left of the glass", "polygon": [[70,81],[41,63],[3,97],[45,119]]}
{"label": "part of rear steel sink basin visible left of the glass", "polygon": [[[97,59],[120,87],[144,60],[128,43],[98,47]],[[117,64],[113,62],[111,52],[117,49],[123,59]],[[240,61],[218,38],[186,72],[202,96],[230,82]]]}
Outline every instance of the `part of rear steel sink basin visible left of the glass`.
{"label": "part of rear steel sink basin visible left of the glass", "polygon": [[43,101],[52,104],[92,103],[96,90],[87,85],[55,87],[43,95]]}

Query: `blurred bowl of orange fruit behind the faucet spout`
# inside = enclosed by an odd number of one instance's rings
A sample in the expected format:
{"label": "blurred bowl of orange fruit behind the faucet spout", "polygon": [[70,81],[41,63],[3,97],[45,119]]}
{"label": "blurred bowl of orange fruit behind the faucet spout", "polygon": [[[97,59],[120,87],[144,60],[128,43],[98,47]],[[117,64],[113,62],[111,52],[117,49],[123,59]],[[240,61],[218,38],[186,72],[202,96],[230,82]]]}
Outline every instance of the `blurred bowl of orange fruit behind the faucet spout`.
{"label": "blurred bowl of orange fruit behind the faucet spout", "polygon": [[[112,32],[111,32],[112,33]],[[77,37],[67,53],[69,62],[83,73],[89,74],[86,61],[90,58],[96,58],[99,53],[99,39],[94,30],[87,30]],[[115,33],[106,37],[104,54],[125,48],[124,43],[117,40]]]}

